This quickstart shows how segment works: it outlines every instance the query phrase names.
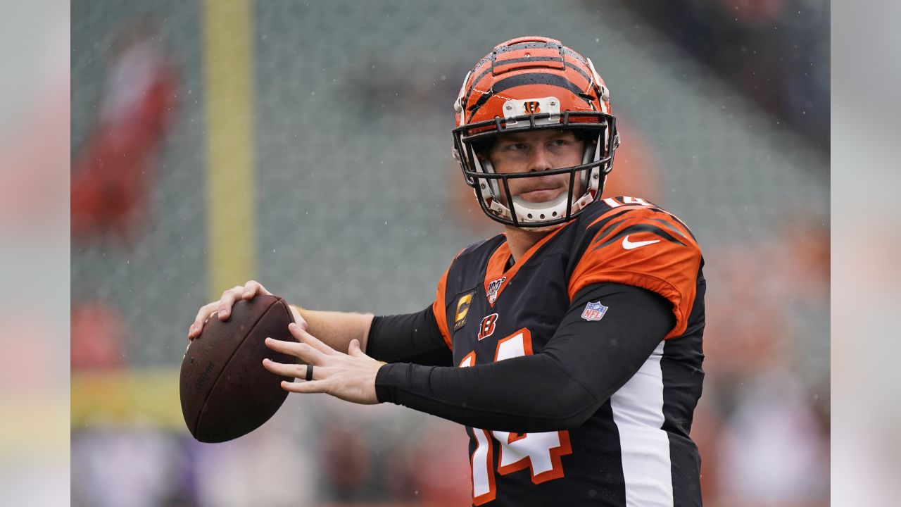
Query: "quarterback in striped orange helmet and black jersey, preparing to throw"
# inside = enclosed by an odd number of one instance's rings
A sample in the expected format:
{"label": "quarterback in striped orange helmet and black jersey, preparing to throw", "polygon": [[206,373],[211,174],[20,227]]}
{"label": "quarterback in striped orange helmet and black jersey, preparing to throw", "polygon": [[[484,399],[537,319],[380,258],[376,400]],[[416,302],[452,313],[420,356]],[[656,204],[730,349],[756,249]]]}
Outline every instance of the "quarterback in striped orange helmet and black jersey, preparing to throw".
{"label": "quarterback in striped orange helmet and black jersey, preparing to throw", "polygon": [[[620,143],[595,66],[560,41],[505,41],[453,104],[462,176],[503,234],[462,249],[409,315],[293,307],[289,392],[391,402],[467,427],[474,505],[700,505],[689,437],[704,372],[695,237],[602,197]],[[229,318],[236,286],[197,313]]]}

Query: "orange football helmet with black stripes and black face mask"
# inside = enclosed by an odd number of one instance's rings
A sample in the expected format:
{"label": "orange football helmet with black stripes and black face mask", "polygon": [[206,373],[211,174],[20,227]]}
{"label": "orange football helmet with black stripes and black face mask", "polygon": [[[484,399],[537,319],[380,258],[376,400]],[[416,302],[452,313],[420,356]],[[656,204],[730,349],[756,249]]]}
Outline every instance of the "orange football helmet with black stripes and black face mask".
{"label": "orange football helmet with black stripes and black face mask", "polygon": [[[556,226],[600,198],[619,145],[610,92],[591,60],[560,41],[520,37],[497,45],[463,79],[454,111],[454,158],[493,220],[517,227]],[[570,130],[584,140],[582,163],[496,173],[487,151],[497,135],[538,129]],[[510,194],[511,178],[562,173],[569,173],[569,191],[551,201],[528,202]]]}

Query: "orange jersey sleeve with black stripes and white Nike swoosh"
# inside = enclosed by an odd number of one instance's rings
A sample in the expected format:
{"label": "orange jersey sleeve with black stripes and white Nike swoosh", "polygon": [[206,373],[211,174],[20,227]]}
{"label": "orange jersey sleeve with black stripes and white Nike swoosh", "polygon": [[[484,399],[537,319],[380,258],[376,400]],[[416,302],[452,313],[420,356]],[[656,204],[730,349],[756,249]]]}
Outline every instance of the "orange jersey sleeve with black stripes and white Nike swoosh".
{"label": "orange jersey sleeve with black stripes and white Nike swoosh", "polygon": [[602,282],[656,292],[672,304],[676,325],[667,338],[685,333],[695,302],[701,249],[677,217],[659,208],[611,210],[591,226],[594,234],[569,277],[569,300]]}

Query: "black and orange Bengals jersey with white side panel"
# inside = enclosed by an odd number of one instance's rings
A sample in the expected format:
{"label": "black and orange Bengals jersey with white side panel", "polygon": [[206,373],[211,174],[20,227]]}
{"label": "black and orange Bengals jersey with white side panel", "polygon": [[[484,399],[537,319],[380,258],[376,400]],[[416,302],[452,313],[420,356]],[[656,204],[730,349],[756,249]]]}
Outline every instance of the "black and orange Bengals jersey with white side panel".
{"label": "black and orange Bengals jersey with white side panel", "polygon": [[[540,353],[574,296],[598,283],[660,294],[675,326],[576,429],[467,428],[473,504],[700,505],[688,431],[704,378],[705,281],[687,226],[640,198],[605,198],[510,259],[497,235],[458,253],[439,283],[432,310],[460,367]],[[587,301],[582,318],[605,310]]]}

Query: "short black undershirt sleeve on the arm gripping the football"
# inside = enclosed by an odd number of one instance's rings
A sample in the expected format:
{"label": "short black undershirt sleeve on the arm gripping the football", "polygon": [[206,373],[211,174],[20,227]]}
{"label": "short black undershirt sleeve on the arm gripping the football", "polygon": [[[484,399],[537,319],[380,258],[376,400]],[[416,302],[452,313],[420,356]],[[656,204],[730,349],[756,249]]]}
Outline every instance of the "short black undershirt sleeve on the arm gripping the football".
{"label": "short black undershirt sleeve on the arm gripping the football", "polygon": [[366,354],[386,363],[453,364],[431,305],[416,313],[373,318]]}

